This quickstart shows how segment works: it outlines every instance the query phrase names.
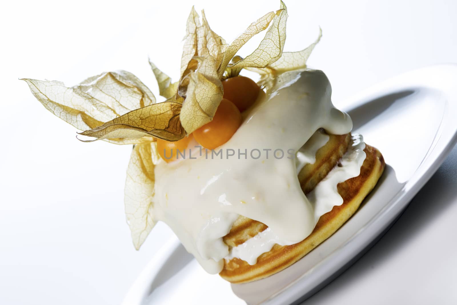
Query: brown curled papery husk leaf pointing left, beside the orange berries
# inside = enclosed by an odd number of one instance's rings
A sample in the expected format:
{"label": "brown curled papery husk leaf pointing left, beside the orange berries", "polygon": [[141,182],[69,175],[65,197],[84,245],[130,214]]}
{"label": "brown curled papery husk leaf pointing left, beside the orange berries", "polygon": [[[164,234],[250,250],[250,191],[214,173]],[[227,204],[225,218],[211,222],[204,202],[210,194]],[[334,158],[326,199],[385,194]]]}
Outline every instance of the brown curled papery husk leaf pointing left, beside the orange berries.
{"label": "brown curled papery husk leaf pointing left, beside the orange berries", "polygon": [[165,101],[132,110],[96,128],[80,132],[80,135],[96,137],[93,142],[106,138],[139,139],[157,137],[177,141],[186,133],[180,123],[181,104]]}

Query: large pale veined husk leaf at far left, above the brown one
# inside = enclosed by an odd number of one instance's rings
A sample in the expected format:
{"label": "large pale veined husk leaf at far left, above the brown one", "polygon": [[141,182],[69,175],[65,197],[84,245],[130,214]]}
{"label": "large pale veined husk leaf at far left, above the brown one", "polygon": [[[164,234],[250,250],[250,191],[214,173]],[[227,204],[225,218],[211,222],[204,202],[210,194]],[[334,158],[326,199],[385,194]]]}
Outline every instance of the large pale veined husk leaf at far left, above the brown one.
{"label": "large pale veined husk leaf at far left, above the brown one", "polygon": [[[155,103],[151,91],[136,76],[126,71],[102,73],[85,79],[74,87],[67,87],[59,81],[23,80],[46,109],[83,131]],[[131,143],[128,139],[118,138],[106,141]],[[144,139],[135,142],[144,142]]]}

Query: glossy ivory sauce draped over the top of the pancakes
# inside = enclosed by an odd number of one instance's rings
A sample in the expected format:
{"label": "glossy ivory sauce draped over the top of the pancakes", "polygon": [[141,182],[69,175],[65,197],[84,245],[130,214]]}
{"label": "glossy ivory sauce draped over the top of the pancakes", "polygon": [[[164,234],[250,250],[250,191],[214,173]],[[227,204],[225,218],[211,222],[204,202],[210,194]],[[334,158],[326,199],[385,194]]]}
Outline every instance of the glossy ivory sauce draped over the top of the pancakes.
{"label": "glossy ivory sauce draped over the top of the pancakes", "polygon": [[229,254],[222,237],[239,215],[265,223],[287,244],[313,231],[315,207],[300,188],[295,153],[319,128],[351,131],[351,118],[332,105],[330,95],[322,71],[281,74],[234,136],[216,149],[222,156],[203,151],[156,165],[156,220],[171,227],[207,272],[222,270]]}

